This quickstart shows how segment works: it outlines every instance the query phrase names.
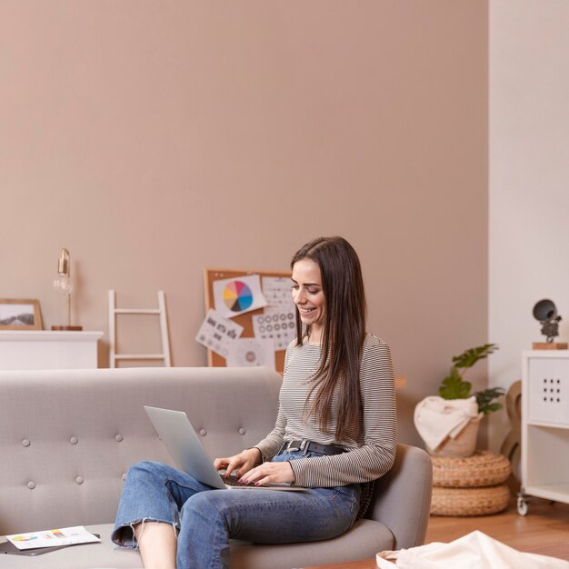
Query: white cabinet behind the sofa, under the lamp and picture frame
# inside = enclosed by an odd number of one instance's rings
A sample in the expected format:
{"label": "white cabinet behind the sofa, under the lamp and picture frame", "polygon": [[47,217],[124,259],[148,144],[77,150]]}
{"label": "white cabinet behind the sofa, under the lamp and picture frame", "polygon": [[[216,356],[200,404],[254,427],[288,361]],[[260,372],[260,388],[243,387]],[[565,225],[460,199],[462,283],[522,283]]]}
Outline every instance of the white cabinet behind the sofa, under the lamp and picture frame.
{"label": "white cabinet behind the sofa, under the lamp and picture frame", "polygon": [[102,332],[0,330],[0,370],[97,367]]}

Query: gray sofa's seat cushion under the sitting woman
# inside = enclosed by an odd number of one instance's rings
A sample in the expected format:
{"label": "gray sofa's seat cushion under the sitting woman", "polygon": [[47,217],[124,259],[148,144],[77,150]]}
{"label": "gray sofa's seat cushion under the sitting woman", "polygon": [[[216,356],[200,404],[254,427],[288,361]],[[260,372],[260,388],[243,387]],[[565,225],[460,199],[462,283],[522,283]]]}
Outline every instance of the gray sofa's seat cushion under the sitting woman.
{"label": "gray sofa's seat cushion under the sitting woman", "polygon": [[[101,535],[100,544],[74,545],[40,556],[3,555],[0,569],[139,569],[137,551],[119,549],[111,542],[113,524],[88,525]],[[232,542],[232,569],[290,569],[312,564],[374,558],[378,551],[393,547],[393,535],[379,522],[359,520],[344,535],[333,540],[305,544],[255,545]]]}

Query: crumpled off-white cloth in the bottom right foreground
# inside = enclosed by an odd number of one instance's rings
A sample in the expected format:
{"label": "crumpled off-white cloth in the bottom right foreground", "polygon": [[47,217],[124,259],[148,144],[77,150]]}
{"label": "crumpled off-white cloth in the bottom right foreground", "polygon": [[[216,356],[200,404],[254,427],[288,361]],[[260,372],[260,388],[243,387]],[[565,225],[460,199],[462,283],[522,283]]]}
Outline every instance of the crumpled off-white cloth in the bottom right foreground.
{"label": "crumpled off-white cloth in the bottom right foreground", "polygon": [[569,561],[525,554],[478,531],[450,544],[382,552],[376,562],[380,569],[569,569]]}

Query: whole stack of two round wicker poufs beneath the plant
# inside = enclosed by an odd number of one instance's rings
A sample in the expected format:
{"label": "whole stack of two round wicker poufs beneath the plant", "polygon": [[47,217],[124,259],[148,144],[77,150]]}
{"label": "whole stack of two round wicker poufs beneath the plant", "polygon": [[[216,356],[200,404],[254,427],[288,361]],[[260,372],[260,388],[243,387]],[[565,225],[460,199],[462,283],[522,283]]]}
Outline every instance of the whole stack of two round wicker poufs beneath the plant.
{"label": "whole stack of two round wicker poufs beneath the plant", "polygon": [[486,515],[502,512],[510,501],[504,484],[510,462],[501,454],[478,451],[465,458],[432,456],[432,515]]}

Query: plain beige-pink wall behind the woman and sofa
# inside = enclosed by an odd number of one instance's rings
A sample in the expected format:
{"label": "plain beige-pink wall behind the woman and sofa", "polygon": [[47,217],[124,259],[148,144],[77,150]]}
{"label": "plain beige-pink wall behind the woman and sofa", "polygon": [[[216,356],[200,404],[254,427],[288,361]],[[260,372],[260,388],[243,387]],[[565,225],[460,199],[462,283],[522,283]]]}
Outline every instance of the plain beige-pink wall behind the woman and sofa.
{"label": "plain beige-pink wall behind the woman and sofa", "polygon": [[[480,0],[5,0],[0,296],[61,324],[65,246],[78,324],[106,331],[109,288],[164,289],[174,364],[201,365],[204,266],[285,270],[344,235],[417,442],[414,404],[486,340],[486,19]],[[129,349],[157,342],[144,327]]]}

